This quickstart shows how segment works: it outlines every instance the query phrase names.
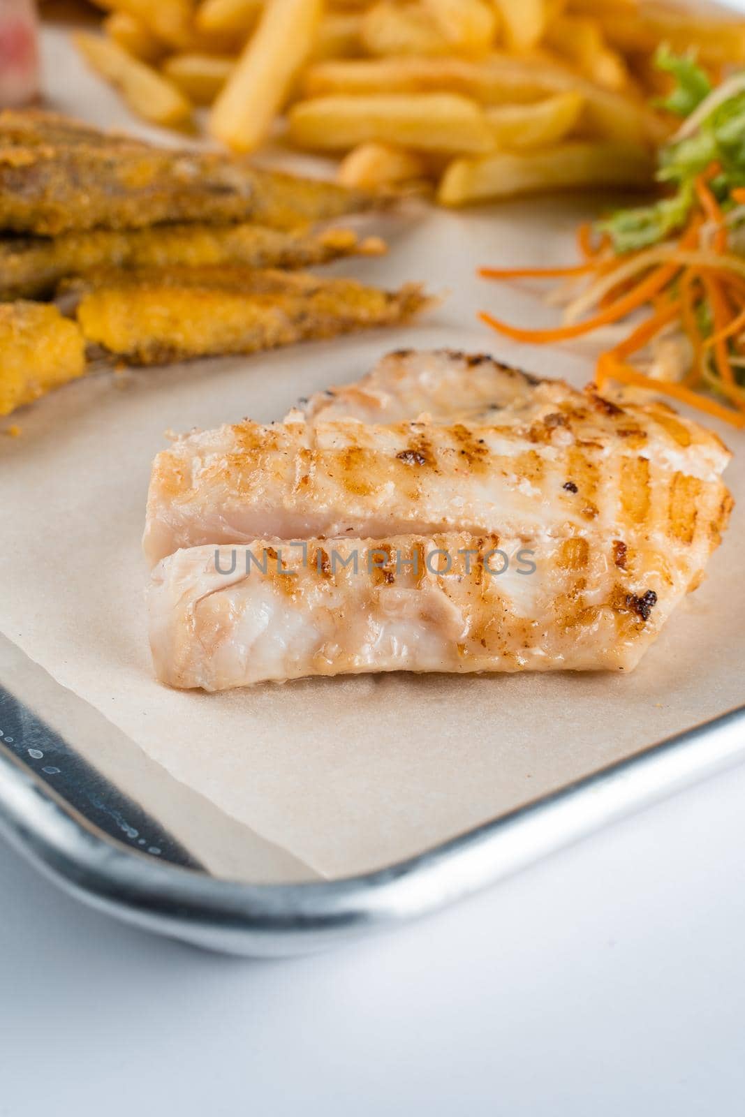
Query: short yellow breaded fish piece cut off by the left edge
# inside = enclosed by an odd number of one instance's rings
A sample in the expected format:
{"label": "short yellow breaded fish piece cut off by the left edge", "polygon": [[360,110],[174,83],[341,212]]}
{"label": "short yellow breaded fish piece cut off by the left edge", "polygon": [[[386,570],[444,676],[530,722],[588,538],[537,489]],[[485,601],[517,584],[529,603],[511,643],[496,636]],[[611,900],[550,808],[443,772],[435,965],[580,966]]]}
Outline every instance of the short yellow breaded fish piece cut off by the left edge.
{"label": "short yellow breaded fish piece cut off by the left edge", "polygon": [[74,322],[44,303],[0,303],[0,416],[85,373]]}

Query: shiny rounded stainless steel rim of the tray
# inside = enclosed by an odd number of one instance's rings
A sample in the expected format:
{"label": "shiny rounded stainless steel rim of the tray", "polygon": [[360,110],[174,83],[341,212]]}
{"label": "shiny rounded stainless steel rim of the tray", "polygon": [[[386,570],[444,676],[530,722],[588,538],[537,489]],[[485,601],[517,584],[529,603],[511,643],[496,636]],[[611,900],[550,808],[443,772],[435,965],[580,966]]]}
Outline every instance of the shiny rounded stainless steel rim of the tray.
{"label": "shiny rounded stainless steel rim of the tray", "polygon": [[327,882],[251,886],[102,837],[0,753],[0,832],[94,907],[209,949],[283,956],[423,916],[745,756],[745,706],[420,857]]}

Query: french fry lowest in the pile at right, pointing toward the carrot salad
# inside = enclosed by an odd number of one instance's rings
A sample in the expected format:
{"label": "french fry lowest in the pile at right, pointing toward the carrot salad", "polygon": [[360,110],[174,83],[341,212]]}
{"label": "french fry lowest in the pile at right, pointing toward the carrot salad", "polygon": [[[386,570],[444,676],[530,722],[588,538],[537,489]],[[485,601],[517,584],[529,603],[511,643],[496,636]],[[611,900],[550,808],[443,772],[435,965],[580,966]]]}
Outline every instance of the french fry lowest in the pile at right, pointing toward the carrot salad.
{"label": "french fry lowest in the pile at right, pointing toward the carrot salad", "polygon": [[570,187],[644,187],[651,181],[652,160],[644,147],[575,141],[520,154],[453,160],[437,197],[443,206],[464,206]]}

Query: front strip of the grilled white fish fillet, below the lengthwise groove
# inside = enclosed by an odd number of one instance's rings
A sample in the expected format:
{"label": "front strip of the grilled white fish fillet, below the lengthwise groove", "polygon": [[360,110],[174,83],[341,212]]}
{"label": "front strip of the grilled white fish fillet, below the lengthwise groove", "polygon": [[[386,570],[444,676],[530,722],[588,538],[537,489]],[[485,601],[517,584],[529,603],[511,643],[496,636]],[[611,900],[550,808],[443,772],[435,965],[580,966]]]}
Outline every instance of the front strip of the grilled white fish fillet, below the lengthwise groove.
{"label": "front strip of the grilled white fish fillet, below the lengthwise groove", "polygon": [[671,554],[640,543],[621,561],[612,535],[192,547],[153,571],[155,674],[225,690],[362,671],[630,670],[707,553],[704,538]]}

